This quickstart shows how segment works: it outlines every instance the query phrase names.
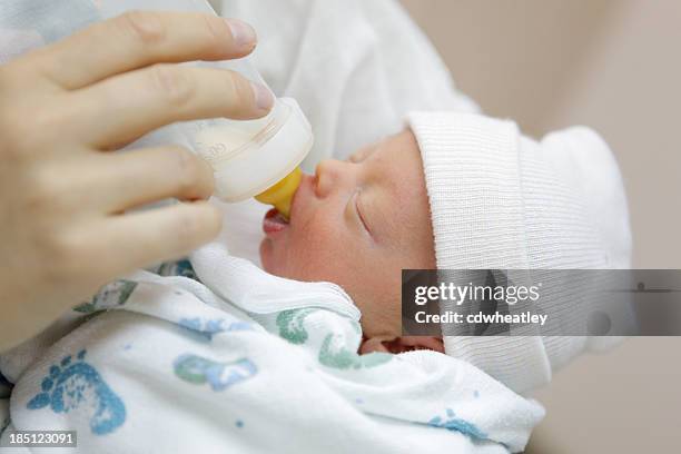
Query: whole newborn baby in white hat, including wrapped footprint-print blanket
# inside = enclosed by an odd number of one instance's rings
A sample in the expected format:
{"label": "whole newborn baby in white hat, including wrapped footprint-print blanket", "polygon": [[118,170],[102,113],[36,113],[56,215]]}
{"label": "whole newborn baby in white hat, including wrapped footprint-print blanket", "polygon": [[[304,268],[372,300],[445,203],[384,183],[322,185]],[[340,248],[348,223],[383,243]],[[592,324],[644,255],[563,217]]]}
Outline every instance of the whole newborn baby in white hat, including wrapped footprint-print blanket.
{"label": "whole newborn baby in white hat, including wrapped footprint-print blanket", "polygon": [[81,452],[522,452],[543,409],[517,393],[586,340],[402,337],[401,269],[620,266],[616,166],[585,128],[536,142],[478,115],[408,126],[320,162],[289,224],[266,216],[270,274],[215,241],[0,355],[14,384],[0,437],[77,430]]}

